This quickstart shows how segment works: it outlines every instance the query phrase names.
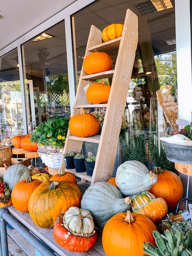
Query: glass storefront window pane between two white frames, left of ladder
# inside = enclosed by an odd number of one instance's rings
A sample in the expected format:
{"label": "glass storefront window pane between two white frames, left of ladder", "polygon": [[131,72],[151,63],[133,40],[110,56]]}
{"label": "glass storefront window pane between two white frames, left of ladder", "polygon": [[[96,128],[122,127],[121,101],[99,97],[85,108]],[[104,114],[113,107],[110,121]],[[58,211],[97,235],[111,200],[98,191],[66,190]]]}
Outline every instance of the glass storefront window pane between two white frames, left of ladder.
{"label": "glass storefront window pane between two white frames, left of ladder", "polygon": [[49,118],[70,116],[65,22],[44,33],[52,37],[22,45],[29,133]]}

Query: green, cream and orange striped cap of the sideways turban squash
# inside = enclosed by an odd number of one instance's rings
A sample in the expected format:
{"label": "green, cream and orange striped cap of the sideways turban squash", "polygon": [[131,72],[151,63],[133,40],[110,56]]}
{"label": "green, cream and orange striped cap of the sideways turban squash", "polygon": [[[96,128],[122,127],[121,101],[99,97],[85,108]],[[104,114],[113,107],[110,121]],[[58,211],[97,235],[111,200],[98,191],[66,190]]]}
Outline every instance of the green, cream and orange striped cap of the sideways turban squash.
{"label": "green, cream and orange striped cap of the sideways turban squash", "polygon": [[138,211],[138,209],[140,209],[145,204],[147,204],[148,202],[155,198],[156,197],[152,193],[147,191],[144,191],[139,195],[133,195],[131,205],[132,212]]}

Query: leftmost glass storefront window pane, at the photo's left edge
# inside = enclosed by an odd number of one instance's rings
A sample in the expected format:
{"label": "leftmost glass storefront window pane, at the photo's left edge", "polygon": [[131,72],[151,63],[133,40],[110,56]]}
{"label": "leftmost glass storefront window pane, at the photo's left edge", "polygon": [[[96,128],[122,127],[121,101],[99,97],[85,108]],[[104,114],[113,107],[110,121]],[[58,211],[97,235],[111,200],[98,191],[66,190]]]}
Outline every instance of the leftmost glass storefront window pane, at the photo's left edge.
{"label": "leftmost glass storefront window pane, at the photo's left edge", "polygon": [[0,140],[23,132],[17,49],[0,58]]}

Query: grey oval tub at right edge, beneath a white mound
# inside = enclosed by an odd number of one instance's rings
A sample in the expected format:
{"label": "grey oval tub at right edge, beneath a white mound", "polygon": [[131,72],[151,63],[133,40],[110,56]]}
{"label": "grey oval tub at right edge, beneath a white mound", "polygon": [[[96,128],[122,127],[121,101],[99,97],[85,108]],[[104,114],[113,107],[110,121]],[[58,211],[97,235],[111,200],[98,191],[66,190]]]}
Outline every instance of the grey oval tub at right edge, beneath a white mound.
{"label": "grey oval tub at right edge, beneath a white mound", "polygon": [[167,159],[174,163],[192,164],[192,146],[183,146],[161,141]]}

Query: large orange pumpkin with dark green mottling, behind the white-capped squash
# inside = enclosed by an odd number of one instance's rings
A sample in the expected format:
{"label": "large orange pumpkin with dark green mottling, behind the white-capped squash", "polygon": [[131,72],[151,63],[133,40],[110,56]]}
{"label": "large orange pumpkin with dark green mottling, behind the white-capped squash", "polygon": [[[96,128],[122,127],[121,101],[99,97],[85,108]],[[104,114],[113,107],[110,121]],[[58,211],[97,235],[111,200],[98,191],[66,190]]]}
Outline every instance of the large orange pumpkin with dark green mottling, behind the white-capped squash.
{"label": "large orange pumpkin with dark green mottling, behind the white-capped squash", "polygon": [[70,181],[42,182],[29,199],[29,215],[42,228],[54,227],[57,217],[71,206],[80,207],[80,189]]}

